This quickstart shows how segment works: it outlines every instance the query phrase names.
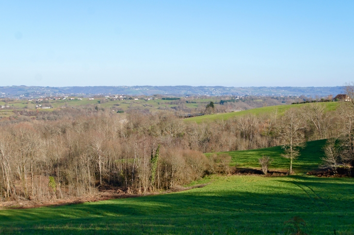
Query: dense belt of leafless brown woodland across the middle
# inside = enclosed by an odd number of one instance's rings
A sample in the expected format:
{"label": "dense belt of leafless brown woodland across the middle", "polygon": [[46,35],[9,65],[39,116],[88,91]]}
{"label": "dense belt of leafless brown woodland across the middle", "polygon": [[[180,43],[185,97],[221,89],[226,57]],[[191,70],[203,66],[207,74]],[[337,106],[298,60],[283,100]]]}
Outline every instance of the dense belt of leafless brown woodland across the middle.
{"label": "dense belt of leafless brown woodland across the middle", "polygon": [[[320,123],[316,126],[324,133],[326,125],[320,119],[325,116],[321,110],[317,113],[314,117],[319,119],[313,122]],[[284,118],[274,112],[201,124],[185,123],[162,110],[157,113],[129,110],[118,114],[82,109],[61,115],[60,120],[28,120],[2,127],[1,197],[61,199],[94,194],[105,187],[144,193],[152,190],[152,178],[155,188],[173,188],[188,184],[206,172],[229,172],[230,157],[208,159],[202,153],[283,143],[286,157],[295,159],[304,138],[319,138],[318,134],[306,132],[305,117],[292,112]],[[343,127],[349,133],[346,128]],[[152,177],[154,162],[150,161],[149,150],[156,149],[158,144],[160,156]],[[49,187],[49,176],[56,183],[55,192]]]}

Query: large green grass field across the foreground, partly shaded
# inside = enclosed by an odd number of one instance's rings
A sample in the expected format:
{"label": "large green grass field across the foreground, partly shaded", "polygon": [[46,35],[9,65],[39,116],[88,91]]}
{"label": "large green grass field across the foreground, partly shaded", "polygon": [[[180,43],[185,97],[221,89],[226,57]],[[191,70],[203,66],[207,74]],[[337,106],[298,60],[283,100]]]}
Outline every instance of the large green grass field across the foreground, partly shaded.
{"label": "large green grass field across the foreground, partly shaded", "polygon": [[1,210],[0,234],[354,234],[354,179],[211,177],[204,188],[59,207]]}

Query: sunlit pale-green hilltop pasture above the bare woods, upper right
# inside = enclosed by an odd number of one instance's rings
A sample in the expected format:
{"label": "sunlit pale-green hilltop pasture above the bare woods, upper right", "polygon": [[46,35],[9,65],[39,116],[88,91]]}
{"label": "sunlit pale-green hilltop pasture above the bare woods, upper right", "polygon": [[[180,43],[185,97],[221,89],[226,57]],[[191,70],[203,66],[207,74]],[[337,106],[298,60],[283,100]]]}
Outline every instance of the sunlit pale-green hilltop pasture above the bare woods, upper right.
{"label": "sunlit pale-green hilltop pasture above the bare woods, upper right", "polygon": [[[326,111],[336,110],[340,102],[323,102],[318,103],[320,105],[325,106]],[[227,113],[217,113],[217,114],[210,114],[210,115],[203,115],[198,117],[186,118],[183,121],[186,123],[202,123],[202,122],[213,122],[213,121],[221,121],[221,120],[228,120],[230,118],[239,117],[243,115],[261,115],[261,114],[270,114],[270,113],[277,113],[283,114],[286,110],[290,108],[302,108],[311,105],[311,103],[307,104],[295,104],[295,105],[276,105],[276,106],[267,106],[262,108],[256,108],[251,110],[242,110],[237,112],[227,112]]]}

